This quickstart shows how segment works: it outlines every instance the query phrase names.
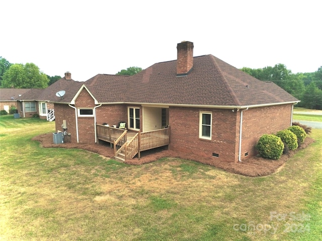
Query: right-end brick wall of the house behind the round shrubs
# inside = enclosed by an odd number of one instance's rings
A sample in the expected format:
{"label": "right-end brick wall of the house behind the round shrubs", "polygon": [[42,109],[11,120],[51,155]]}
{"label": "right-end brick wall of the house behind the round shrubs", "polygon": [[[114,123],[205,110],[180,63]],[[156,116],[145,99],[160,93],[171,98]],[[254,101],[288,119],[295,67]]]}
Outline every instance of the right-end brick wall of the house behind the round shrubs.
{"label": "right-end brick wall of the house behind the round shrubs", "polygon": [[[240,116],[240,110],[238,115]],[[245,153],[257,155],[256,144],[263,134],[275,134],[291,125],[292,104],[250,108],[243,112],[243,132],[241,142],[241,159]],[[239,138],[239,121],[238,132]],[[237,142],[238,143],[238,142]]]}

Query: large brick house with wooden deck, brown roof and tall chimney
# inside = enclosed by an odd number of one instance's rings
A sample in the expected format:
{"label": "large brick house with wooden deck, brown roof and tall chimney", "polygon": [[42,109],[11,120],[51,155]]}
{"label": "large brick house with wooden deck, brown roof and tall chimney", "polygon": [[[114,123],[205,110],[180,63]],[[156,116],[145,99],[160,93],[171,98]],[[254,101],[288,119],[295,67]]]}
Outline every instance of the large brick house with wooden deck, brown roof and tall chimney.
{"label": "large brick house with wooden deck, brown roof and tall chimney", "polygon": [[[260,136],[291,126],[299,100],[276,84],[213,55],[193,57],[192,42],[179,43],[177,54],[133,76],[98,74],[75,82],[66,73],[44,91],[54,103],[56,130],[68,142],[110,142],[123,160],[168,146],[211,163],[254,156]],[[59,90],[63,97],[55,95]],[[117,128],[120,122],[127,131]]]}

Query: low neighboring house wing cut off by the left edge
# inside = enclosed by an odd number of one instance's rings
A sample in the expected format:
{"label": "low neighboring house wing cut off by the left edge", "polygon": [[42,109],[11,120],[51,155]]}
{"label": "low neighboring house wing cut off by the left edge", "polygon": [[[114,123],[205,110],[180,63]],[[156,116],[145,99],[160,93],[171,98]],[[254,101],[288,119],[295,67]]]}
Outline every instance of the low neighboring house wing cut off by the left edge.
{"label": "low neighboring house wing cut off by the left edge", "polygon": [[17,98],[30,89],[0,88],[0,110],[5,109],[8,113],[11,106],[17,109]]}

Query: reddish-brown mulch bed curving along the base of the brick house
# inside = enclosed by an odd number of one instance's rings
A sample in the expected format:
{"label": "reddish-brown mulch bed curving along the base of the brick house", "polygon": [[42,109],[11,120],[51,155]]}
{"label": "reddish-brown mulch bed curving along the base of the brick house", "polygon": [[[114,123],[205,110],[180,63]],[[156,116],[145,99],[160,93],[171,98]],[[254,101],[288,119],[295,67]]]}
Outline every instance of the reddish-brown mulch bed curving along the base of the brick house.
{"label": "reddish-brown mulch bed curving along the base of the brick house", "polygon": [[[74,144],[74,143],[64,143],[64,144],[53,144],[52,134],[44,134],[32,139],[33,141],[38,141],[41,143],[44,148],[74,148],[74,149],[83,149],[90,152],[98,153],[99,155],[106,158],[113,158],[114,150],[110,148],[109,145],[103,144]],[[293,156],[298,150],[306,148],[308,145],[314,142],[314,139],[310,137],[306,137],[304,143],[295,150],[291,151],[289,154],[282,155],[279,160],[268,160],[262,157],[249,157],[243,160],[240,163],[233,162],[223,162],[219,161],[219,159],[208,158],[208,157],[200,157],[195,156],[190,153],[179,153],[171,150],[165,150],[162,148],[152,149],[149,151],[141,152],[141,158],[134,158],[132,160],[126,161],[127,164],[130,165],[141,165],[144,163],[149,163],[156,161],[160,158],[172,157],[172,158],[181,158],[186,160],[198,161],[203,164],[215,166],[217,168],[223,169],[230,173],[240,174],[244,176],[250,177],[259,177],[259,176],[267,176],[272,173],[280,170],[288,158]]]}

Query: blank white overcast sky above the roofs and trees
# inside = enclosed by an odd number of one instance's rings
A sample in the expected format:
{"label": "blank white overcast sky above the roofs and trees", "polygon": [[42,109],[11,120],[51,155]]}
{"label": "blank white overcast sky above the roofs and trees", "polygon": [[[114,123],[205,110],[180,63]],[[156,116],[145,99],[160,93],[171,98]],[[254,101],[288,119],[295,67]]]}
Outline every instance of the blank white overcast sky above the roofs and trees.
{"label": "blank white overcast sky above the roofs and trees", "polygon": [[177,44],[236,68],[322,65],[317,0],[1,1],[0,56],[77,81],[175,60]]}

